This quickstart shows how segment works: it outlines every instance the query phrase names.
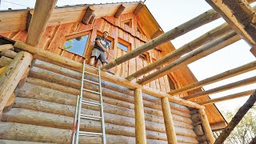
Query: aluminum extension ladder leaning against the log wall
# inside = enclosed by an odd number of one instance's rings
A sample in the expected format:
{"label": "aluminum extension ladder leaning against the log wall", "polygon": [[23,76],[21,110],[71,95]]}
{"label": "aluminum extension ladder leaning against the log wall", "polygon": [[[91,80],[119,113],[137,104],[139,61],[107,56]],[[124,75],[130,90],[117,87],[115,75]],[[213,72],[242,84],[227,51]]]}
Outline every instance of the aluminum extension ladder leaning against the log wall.
{"label": "aluminum extension ladder leaning against the log wall", "polygon": [[[86,67],[93,68],[95,70],[98,70],[97,74],[92,74],[88,71],[86,71]],[[81,91],[80,95],[78,95],[77,98],[77,106],[75,110],[75,117],[74,117],[74,129],[72,132],[72,144],[78,144],[78,140],[80,136],[88,136],[88,137],[102,137],[102,144],[106,144],[106,133],[105,133],[105,122],[104,122],[104,112],[103,112],[103,102],[102,102],[102,84],[101,84],[101,72],[100,68],[95,68],[93,66],[86,65],[85,61],[83,62],[83,68],[82,68],[82,82],[81,82]],[[94,75],[98,77],[98,82],[93,82],[88,79],[85,79],[84,76],[86,74]],[[99,91],[93,91],[93,90],[87,90],[83,88],[84,82],[90,82],[93,84],[98,85]],[[98,94],[99,95],[99,102],[90,102],[85,101],[82,99],[82,93],[83,91],[90,92],[92,94]],[[93,116],[93,115],[86,115],[82,114],[82,105],[87,106],[98,106],[100,107],[100,116]],[[88,120],[96,120],[101,122],[101,128],[102,133],[93,133],[93,132],[87,132],[87,131],[80,131],[80,122],[81,119],[88,119]]]}

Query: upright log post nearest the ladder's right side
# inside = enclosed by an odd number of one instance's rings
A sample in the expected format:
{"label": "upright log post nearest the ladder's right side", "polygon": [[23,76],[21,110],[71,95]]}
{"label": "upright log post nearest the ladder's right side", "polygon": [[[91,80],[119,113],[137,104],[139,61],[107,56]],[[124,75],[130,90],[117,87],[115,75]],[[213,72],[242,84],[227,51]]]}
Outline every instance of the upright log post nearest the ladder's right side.
{"label": "upright log post nearest the ladder's right side", "polygon": [[136,143],[146,144],[146,127],[143,109],[142,89],[134,90]]}

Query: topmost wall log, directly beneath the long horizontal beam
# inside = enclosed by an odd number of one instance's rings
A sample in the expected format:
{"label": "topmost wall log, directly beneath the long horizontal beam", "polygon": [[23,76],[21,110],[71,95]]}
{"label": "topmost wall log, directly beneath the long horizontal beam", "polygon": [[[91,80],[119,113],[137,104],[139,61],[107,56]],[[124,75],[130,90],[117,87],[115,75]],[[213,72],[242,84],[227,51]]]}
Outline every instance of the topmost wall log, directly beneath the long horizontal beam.
{"label": "topmost wall log, directly beneath the long horizontal beam", "polygon": [[[63,68],[61,66],[53,65],[48,62],[42,62],[40,60],[36,60],[34,62],[34,66],[41,68],[43,70],[52,71],[56,74],[64,75],[66,77],[75,78],[78,80],[80,80],[82,78],[82,73],[79,73],[74,70],[69,70],[69,69]],[[93,82],[98,82],[98,78],[93,78],[93,77],[90,77],[87,75],[85,75],[85,78],[89,79],[90,81],[93,81]],[[122,94],[127,94],[130,96],[134,95],[133,90],[130,90],[126,87],[123,87],[123,86],[120,86],[120,85],[117,85],[117,84],[114,84],[111,82],[106,82],[105,80],[102,80],[102,87],[105,87],[106,89],[109,89],[109,90],[117,91]],[[160,98],[153,97],[149,94],[143,94],[143,99],[148,102],[153,102],[155,109],[162,110]],[[158,104],[158,105],[156,105],[156,104]],[[144,102],[144,106],[148,106],[147,102]],[[181,111],[182,113],[180,113],[180,114],[183,114],[183,113],[190,114],[190,110],[188,110],[188,108],[186,106],[178,105],[177,103],[174,103],[174,102],[170,102],[170,108],[172,110]],[[172,111],[172,113],[174,113],[174,111]],[[185,114],[183,116],[186,118],[190,118],[190,116],[185,115]]]}

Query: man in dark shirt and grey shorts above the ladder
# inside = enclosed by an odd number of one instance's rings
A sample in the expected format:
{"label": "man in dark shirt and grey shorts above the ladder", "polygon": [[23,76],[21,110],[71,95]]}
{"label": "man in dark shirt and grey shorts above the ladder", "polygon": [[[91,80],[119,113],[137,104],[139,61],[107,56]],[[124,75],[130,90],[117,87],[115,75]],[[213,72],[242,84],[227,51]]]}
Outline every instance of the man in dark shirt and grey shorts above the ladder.
{"label": "man in dark shirt and grey shorts above the ladder", "polygon": [[102,62],[102,66],[107,64],[106,53],[108,54],[110,50],[110,43],[106,41],[108,35],[109,33],[104,31],[102,37],[97,36],[95,38],[94,48],[90,56],[90,66],[93,66],[98,59]]}

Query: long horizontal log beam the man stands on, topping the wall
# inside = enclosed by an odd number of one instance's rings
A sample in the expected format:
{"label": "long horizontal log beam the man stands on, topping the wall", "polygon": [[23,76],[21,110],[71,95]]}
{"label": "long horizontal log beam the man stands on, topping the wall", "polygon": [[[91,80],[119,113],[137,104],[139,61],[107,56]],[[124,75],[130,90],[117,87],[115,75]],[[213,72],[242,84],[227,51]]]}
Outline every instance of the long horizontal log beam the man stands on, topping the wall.
{"label": "long horizontal log beam the man stands on, topping the wall", "polygon": [[[52,64],[62,66],[62,67],[65,67],[65,68],[68,68],[71,70],[75,70],[75,71],[82,70],[82,63],[80,63],[80,62],[75,62],[74,60],[62,57],[58,54],[52,54],[46,50],[37,49],[34,46],[27,45],[24,42],[15,42],[14,47],[21,49],[21,50],[26,50],[26,51],[30,52],[31,54],[34,54],[34,58],[37,58],[39,60],[42,60],[45,62],[50,62]],[[91,73],[97,74],[97,70],[94,70],[92,68],[88,68],[88,71]],[[121,77],[115,76],[113,74],[108,74],[104,71],[102,71],[101,74],[102,74],[103,80],[112,82],[114,84],[118,84],[120,86],[127,87],[131,90],[140,88],[140,89],[142,89],[143,93],[150,94],[157,98],[168,97],[171,102],[177,102],[181,105],[190,106],[190,107],[197,108],[197,109],[204,107],[204,106],[198,105],[197,103],[186,101],[182,98],[174,97],[174,96],[171,96],[170,94],[166,94],[161,91],[154,90],[154,89],[146,87],[146,86],[142,86],[136,82],[130,82],[130,81],[126,80],[125,78],[121,78]]]}

